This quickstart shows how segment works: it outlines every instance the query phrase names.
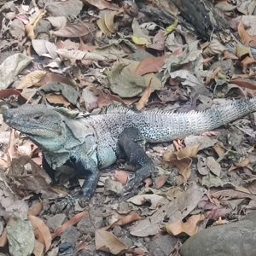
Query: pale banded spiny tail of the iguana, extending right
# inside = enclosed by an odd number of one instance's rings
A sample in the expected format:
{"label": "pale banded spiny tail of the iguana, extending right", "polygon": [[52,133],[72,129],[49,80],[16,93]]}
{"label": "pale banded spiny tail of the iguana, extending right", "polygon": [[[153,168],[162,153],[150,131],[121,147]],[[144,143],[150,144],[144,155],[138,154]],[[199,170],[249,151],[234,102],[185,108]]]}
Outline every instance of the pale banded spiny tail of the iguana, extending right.
{"label": "pale banded spiny tail of the iguana, extending right", "polygon": [[166,113],[164,111],[149,111],[146,114],[148,127],[142,127],[141,131],[148,142],[166,142],[190,134],[212,131],[254,111],[256,111],[256,98],[232,102],[202,112]]}

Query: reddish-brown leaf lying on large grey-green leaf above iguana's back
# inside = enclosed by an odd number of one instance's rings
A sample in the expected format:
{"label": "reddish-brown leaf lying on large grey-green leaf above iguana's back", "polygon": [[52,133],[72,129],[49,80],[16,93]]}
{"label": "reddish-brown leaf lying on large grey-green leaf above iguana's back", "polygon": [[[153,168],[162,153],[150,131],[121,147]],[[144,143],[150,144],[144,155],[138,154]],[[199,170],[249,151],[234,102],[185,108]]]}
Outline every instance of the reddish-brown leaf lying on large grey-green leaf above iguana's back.
{"label": "reddish-brown leaf lying on large grey-green leaf above iguana's back", "polygon": [[159,72],[160,68],[165,65],[166,59],[169,55],[162,55],[160,57],[150,56],[138,65],[136,69],[137,75],[144,75],[146,73]]}

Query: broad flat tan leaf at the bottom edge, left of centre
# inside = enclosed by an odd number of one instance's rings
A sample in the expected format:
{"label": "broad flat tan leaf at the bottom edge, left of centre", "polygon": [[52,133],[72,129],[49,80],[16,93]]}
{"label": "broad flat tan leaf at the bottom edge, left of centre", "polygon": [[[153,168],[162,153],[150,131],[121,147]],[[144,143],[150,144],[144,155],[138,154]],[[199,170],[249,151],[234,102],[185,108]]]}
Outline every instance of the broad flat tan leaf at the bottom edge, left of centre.
{"label": "broad flat tan leaf at the bottom edge, left of centre", "polygon": [[113,255],[125,253],[128,249],[116,236],[105,230],[96,230],[95,244],[96,250],[112,253]]}

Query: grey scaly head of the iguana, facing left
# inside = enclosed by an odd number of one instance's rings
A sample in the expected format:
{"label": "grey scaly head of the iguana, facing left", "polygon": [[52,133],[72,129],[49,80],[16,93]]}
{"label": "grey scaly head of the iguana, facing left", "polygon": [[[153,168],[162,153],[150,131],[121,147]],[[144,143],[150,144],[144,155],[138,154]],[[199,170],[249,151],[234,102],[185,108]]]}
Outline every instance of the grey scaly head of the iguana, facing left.
{"label": "grey scaly head of the iguana, facing left", "polygon": [[48,151],[60,149],[67,140],[65,117],[53,107],[23,105],[6,110],[3,120]]}

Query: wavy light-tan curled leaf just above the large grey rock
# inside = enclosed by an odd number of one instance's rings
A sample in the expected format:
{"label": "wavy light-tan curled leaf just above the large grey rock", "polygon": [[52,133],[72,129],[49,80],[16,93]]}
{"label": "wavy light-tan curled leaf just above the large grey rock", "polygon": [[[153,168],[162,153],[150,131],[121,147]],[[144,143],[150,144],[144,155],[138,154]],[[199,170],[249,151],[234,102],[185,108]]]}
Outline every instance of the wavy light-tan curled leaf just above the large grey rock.
{"label": "wavy light-tan curled leaf just above the large grey rock", "polygon": [[191,216],[186,222],[182,220],[166,224],[164,230],[173,236],[187,234],[194,236],[198,231],[198,223],[204,219],[203,214],[197,214]]}

